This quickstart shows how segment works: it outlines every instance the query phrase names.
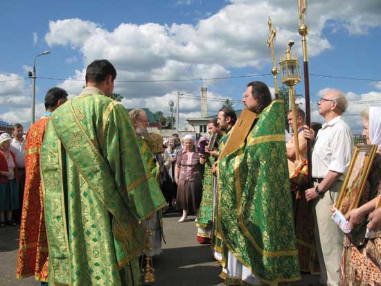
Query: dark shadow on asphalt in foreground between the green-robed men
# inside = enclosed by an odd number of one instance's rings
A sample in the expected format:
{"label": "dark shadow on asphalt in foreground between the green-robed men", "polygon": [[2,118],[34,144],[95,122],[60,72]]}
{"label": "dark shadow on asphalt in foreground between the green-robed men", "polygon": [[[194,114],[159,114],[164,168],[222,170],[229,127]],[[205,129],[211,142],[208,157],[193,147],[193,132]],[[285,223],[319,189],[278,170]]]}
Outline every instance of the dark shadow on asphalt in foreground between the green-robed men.
{"label": "dark shadow on asphalt in foreground between the green-robed men", "polygon": [[155,286],[211,286],[222,280],[209,245],[163,249],[154,258]]}

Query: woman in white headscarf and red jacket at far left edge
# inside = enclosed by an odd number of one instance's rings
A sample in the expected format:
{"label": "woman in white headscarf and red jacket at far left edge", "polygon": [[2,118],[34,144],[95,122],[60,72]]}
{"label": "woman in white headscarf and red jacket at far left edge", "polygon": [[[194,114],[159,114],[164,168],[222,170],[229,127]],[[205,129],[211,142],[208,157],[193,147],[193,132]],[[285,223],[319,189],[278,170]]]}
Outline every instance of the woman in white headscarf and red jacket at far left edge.
{"label": "woman in white headscarf and red jacket at far left edge", "polygon": [[17,165],[15,154],[10,151],[10,135],[0,135],[0,227],[7,224],[15,226],[12,211],[19,208],[19,185],[17,183]]}

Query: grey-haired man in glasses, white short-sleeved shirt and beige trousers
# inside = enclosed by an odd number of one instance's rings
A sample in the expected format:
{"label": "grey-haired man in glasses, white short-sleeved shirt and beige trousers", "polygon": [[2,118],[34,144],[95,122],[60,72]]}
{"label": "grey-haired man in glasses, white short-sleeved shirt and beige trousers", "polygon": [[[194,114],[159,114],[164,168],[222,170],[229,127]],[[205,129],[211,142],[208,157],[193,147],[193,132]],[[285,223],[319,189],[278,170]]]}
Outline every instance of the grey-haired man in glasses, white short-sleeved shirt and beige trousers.
{"label": "grey-haired man in glasses, white short-sleeved shirt and beige trousers", "polygon": [[[342,120],[348,103],[342,91],[331,89],[319,100],[319,114],[326,123],[315,139],[312,151],[314,187],[305,190],[305,199],[314,207],[315,238],[321,267],[321,283],[339,285],[344,233],[331,220],[330,208],[337,201],[344,175],[351,161],[353,136]],[[305,125],[305,138],[314,132]]]}

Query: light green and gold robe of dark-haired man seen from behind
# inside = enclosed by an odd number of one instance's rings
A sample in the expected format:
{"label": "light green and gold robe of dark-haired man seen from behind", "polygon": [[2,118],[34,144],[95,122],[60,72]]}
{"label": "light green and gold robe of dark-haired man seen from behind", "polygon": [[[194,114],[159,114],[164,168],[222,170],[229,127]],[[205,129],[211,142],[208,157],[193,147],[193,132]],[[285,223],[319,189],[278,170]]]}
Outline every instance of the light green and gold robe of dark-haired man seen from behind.
{"label": "light green and gold robe of dark-haired man seen from behind", "polygon": [[122,105],[81,95],[56,109],[41,154],[48,284],[139,285],[139,221],[165,206]]}

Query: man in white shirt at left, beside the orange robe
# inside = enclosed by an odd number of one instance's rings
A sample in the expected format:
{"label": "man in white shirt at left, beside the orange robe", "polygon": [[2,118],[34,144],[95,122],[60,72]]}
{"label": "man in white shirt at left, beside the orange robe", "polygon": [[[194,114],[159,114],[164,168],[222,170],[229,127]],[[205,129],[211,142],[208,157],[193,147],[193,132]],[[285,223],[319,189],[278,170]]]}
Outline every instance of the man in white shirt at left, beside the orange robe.
{"label": "man in white shirt at left, beside the orange robe", "polygon": [[25,186],[25,153],[24,153],[24,127],[15,123],[13,125],[13,139],[10,143],[10,150],[15,153],[17,169],[19,173],[19,213],[16,215],[17,221],[21,219],[22,202],[24,199]]}

